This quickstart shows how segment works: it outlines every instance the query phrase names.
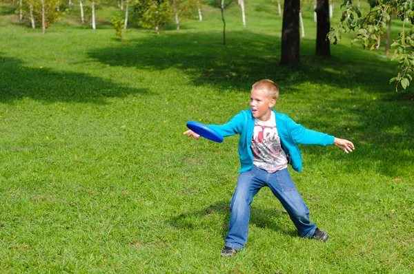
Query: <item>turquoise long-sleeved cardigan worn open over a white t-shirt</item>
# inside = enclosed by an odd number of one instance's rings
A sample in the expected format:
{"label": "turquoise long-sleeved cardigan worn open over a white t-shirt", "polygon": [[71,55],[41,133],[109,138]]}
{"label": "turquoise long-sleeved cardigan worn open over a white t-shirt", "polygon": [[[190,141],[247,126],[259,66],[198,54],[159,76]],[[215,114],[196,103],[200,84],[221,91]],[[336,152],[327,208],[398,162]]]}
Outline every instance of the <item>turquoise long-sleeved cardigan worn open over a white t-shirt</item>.
{"label": "turquoise long-sleeved cardigan worn open over a white t-shirt", "polygon": [[[275,112],[272,109],[273,112]],[[277,133],[282,142],[282,148],[288,156],[288,163],[295,171],[302,171],[302,154],[297,144],[302,145],[333,145],[334,137],[311,129],[305,129],[295,123],[286,114],[275,112]],[[240,134],[239,159],[242,169],[240,172],[249,171],[253,167],[253,154],[250,145],[255,127],[255,118],[251,109],[242,110],[224,125],[208,125],[218,131],[223,137]]]}

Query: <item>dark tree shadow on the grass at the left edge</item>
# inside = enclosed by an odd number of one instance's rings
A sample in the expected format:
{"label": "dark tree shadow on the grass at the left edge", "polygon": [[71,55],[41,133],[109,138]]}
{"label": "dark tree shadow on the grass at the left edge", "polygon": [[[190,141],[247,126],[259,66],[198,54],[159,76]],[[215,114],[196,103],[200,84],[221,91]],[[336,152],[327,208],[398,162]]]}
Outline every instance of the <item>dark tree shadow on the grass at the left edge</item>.
{"label": "dark tree shadow on the grass at the left edge", "polygon": [[18,59],[0,56],[0,102],[22,98],[45,102],[105,103],[106,98],[146,94],[146,88],[133,89],[102,78],[47,68],[25,67]]}

